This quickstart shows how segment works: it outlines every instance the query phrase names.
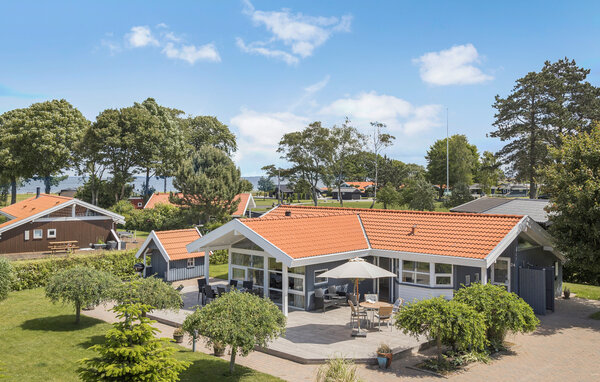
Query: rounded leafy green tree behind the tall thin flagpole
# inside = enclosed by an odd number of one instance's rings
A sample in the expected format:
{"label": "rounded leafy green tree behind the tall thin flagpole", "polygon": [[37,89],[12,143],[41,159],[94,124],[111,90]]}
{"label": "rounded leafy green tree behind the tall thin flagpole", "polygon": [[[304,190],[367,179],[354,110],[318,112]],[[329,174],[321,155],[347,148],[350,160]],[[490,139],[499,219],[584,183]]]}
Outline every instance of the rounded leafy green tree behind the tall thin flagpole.
{"label": "rounded leafy green tree behind the tall thin flagpole", "polygon": [[[470,144],[466,136],[456,134],[450,137],[448,148],[450,185],[457,183],[472,184],[479,159],[477,147]],[[435,141],[429,147],[425,159],[427,160],[427,177],[429,181],[440,185],[440,192],[443,192],[441,186],[446,184],[446,139]]]}

